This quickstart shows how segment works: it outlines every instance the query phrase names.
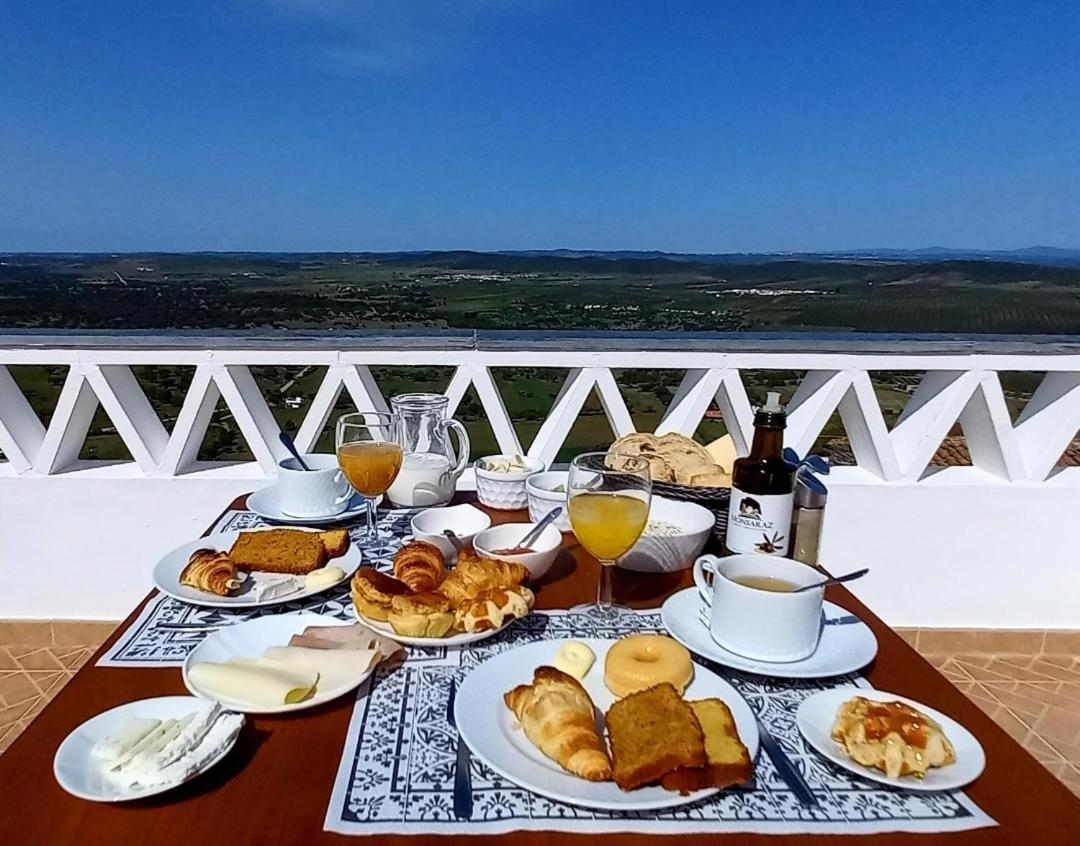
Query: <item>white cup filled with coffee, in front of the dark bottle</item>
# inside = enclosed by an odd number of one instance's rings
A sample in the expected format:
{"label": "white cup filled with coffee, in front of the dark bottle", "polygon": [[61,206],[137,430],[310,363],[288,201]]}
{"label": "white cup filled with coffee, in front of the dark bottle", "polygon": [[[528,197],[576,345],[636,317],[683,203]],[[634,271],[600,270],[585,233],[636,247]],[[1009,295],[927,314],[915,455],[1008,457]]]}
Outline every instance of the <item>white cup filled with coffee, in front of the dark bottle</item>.
{"label": "white cup filled with coffee, in front of the dark bottle", "polygon": [[807,564],[777,555],[702,555],[693,562],[693,581],[705,603],[713,640],[728,652],[758,661],[783,663],[812,655],[821,637],[825,589],[778,592],[734,581],[746,576],[769,576],[799,588],[824,578]]}

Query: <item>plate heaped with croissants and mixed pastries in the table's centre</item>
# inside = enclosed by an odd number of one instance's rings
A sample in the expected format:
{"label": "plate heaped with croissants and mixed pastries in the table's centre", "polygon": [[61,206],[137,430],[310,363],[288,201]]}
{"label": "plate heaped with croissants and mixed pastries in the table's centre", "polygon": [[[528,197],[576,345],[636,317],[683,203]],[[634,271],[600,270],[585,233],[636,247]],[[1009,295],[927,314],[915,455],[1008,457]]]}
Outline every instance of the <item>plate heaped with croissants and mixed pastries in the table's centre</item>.
{"label": "plate heaped with croissants and mixed pastries in the table's centre", "polygon": [[521,564],[464,550],[447,569],[442,550],[413,540],[394,555],[393,575],[361,567],[350,585],[356,616],[413,646],[458,646],[498,634],[532,609]]}

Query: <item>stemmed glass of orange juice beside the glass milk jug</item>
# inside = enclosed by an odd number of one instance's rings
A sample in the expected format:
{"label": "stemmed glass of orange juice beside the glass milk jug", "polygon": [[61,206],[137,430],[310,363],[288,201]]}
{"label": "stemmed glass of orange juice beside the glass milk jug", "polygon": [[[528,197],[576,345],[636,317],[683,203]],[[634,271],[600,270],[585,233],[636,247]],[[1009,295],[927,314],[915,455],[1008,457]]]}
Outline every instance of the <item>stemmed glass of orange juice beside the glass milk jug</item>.
{"label": "stemmed glass of orange juice beside the glass milk jug", "polygon": [[379,538],[375,499],[387,493],[402,467],[402,420],[387,412],[338,417],[335,437],[338,465],[367,505],[367,536]]}

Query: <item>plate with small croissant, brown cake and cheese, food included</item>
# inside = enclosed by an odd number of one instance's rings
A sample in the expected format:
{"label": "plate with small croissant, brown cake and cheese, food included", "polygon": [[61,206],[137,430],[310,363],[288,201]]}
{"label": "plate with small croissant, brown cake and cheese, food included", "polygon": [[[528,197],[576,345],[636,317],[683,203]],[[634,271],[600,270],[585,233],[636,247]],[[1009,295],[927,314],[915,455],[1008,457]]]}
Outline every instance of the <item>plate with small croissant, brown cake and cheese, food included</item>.
{"label": "plate with small croissant, brown cake and cheese, food included", "polygon": [[153,582],[192,605],[258,608],[328,590],[349,579],[361,562],[348,529],[264,526],[177,547],[154,565]]}

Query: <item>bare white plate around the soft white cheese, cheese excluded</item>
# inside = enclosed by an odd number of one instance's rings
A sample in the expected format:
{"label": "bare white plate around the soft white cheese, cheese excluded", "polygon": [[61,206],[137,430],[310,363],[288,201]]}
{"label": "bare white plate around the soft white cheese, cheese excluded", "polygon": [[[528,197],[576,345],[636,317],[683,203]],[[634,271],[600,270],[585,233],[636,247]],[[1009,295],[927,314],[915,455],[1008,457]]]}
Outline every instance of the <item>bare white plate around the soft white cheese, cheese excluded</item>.
{"label": "bare white plate around the soft white cheese, cheese excluded", "polygon": [[202,702],[193,696],[159,696],[154,699],[139,699],[126,702],[92,716],[70,735],[56,750],[53,758],[53,774],[56,781],[72,796],[91,802],[130,802],[131,800],[156,796],[167,790],[187,783],[195,776],[205,773],[218,761],[225,757],[237,743],[237,735],[221,747],[216,755],[211,757],[183,781],[173,784],[159,784],[152,788],[124,788],[113,784],[102,774],[102,762],[91,755],[94,746],[111,735],[119,726],[129,720],[152,717],[154,720],[177,720],[187,716],[202,707]]}

